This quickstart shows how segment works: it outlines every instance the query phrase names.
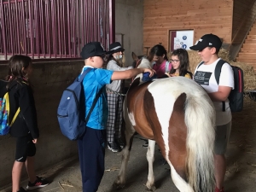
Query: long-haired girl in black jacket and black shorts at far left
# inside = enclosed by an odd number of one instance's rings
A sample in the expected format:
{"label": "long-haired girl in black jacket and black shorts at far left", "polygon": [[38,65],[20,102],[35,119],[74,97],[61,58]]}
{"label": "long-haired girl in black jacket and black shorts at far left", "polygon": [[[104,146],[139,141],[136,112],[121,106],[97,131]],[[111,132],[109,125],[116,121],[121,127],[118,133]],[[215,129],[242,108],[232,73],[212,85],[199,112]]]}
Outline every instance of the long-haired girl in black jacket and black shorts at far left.
{"label": "long-haired girl in black jacket and black shorts at far left", "polygon": [[16,137],[15,163],[12,171],[12,192],[26,191],[20,187],[22,167],[26,166],[29,182],[26,189],[44,187],[49,182],[44,177],[36,176],[34,170],[34,155],[38,143],[39,131],[37,111],[35,108],[32,87],[28,76],[32,73],[32,60],[25,55],[13,55],[9,59],[9,120],[14,119],[15,113],[20,108],[14,124],[10,128],[10,135]]}

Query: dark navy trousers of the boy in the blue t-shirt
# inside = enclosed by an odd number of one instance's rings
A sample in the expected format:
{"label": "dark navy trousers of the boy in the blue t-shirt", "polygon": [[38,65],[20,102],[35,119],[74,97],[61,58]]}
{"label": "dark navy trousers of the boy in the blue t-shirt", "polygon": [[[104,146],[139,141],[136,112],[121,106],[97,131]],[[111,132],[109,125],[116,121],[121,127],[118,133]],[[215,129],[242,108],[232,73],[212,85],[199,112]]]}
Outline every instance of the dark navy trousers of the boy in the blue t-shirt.
{"label": "dark navy trousers of the boy in the blue t-shirt", "polygon": [[86,127],[78,141],[83,192],[96,192],[105,171],[106,130]]}

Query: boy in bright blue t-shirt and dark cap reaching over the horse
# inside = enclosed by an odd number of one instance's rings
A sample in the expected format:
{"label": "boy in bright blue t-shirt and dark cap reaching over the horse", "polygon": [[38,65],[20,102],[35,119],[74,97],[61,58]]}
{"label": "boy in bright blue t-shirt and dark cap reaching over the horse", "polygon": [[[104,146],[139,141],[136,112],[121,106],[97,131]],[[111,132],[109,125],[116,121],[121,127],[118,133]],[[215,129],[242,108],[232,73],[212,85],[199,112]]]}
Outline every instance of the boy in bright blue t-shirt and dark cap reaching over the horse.
{"label": "boy in bright blue t-shirt and dark cap reaching over the horse", "polygon": [[[148,68],[136,68],[127,71],[113,72],[102,69],[103,59],[107,52],[99,42],[85,44],[80,55],[84,59],[84,70],[93,68],[86,74],[83,80],[85,96],[85,117],[90,111],[96,94],[112,80],[131,79],[139,73],[150,73],[154,70]],[[90,114],[86,125],[86,132],[78,141],[79,161],[82,173],[83,192],[96,192],[104,173],[104,157],[106,143],[106,126],[108,120],[108,100],[106,89],[96,102],[96,106]]]}

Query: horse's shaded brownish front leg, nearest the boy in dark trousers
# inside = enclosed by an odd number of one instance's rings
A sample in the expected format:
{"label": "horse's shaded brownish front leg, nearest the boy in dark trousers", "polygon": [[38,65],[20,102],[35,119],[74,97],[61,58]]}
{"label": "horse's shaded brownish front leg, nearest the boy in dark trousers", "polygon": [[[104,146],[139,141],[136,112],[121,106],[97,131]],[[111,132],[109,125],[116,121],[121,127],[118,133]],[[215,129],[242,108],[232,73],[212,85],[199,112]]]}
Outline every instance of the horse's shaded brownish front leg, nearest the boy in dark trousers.
{"label": "horse's shaded brownish front leg, nearest the boy in dark trousers", "polygon": [[130,157],[130,151],[131,151],[131,145],[132,145],[134,133],[135,133],[134,128],[131,125],[126,125],[126,129],[125,129],[126,145],[125,145],[125,148],[123,148],[122,150],[123,154],[122,154],[122,161],[121,161],[119,175],[113,183],[113,188],[115,189],[122,189],[125,187],[125,173],[126,173],[127,163]]}

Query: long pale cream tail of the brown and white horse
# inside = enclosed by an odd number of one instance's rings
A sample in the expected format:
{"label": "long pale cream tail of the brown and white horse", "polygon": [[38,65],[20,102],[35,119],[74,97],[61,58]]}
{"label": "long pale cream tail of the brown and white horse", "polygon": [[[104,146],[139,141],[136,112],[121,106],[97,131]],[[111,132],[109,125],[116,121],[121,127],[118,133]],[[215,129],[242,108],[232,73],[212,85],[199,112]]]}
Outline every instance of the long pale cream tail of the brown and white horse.
{"label": "long pale cream tail of the brown and white horse", "polygon": [[215,185],[213,143],[215,111],[209,96],[187,95],[185,105],[187,136],[187,172],[195,192],[212,192]]}

